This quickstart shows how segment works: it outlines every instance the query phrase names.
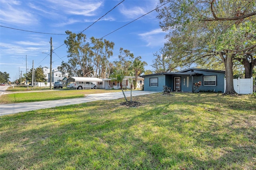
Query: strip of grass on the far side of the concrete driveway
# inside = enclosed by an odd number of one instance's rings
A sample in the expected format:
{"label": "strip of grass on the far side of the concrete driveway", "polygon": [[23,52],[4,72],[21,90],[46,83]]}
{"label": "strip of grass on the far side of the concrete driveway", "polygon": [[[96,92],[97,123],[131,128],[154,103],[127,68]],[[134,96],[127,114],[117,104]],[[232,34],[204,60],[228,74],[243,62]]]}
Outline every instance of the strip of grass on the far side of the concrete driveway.
{"label": "strip of grass on the far side of the concrete driveway", "polygon": [[[10,88],[8,88],[10,90]],[[34,91],[35,90],[35,91]],[[50,101],[50,100],[60,100],[60,99],[74,99],[81,98],[88,94],[95,93],[109,93],[117,92],[121,90],[104,90],[104,89],[85,89],[85,90],[75,90],[75,89],[54,89],[52,91],[45,91],[42,89],[34,89],[30,93],[11,93],[0,96],[1,104],[9,103],[24,103],[24,102],[35,102],[35,101]],[[49,89],[48,89],[49,90]],[[24,87],[16,88],[15,92],[28,92]]]}

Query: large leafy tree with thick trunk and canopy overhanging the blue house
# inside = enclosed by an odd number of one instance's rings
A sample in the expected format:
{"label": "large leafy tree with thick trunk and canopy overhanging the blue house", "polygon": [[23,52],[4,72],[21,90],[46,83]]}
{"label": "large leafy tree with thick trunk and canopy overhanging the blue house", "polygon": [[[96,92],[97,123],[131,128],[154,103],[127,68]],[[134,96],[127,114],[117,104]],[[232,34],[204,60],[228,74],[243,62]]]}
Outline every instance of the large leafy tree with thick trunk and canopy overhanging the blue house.
{"label": "large leafy tree with thick trunk and canopy overhanging the blue house", "polygon": [[160,0],[160,5],[166,2],[168,3],[164,7],[158,8],[158,18],[162,30],[169,32],[165,45],[174,61],[182,65],[222,61],[226,71],[225,93],[235,93],[234,62],[239,57],[242,62],[246,62],[247,57],[254,65],[252,58],[255,56],[256,46],[252,40],[255,36],[250,36],[252,41],[248,41],[248,32],[245,32],[238,39],[233,34],[234,28],[242,30],[246,24],[255,23],[256,2]]}

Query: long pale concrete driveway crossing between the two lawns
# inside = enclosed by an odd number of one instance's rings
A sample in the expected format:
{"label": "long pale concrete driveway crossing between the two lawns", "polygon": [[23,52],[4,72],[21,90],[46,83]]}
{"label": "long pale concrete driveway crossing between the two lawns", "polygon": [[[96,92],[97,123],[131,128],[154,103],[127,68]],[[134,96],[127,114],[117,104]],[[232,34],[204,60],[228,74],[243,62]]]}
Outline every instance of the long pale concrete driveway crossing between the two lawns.
{"label": "long pale concrete driveway crossing between the two lawns", "polygon": [[[132,96],[146,95],[146,94],[152,94],[152,93],[158,93],[158,92],[134,90],[132,91]],[[130,91],[125,91],[125,95],[126,97],[130,97]],[[124,95],[122,92],[91,94],[84,98],[77,98],[77,99],[63,99],[63,100],[53,100],[53,101],[38,101],[38,102],[30,102],[30,103],[6,104],[6,105],[0,105],[0,116],[20,113],[25,111],[33,111],[37,109],[46,109],[46,108],[57,107],[57,106],[87,103],[90,101],[113,100],[113,99],[120,99],[120,98],[124,98]]]}

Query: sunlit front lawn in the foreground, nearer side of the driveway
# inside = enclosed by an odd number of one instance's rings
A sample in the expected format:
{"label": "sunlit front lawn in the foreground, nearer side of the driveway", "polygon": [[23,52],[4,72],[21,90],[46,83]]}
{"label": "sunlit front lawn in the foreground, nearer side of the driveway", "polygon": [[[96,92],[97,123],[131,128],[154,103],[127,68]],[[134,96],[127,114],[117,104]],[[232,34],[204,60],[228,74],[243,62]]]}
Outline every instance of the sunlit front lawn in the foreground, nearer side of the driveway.
{"label": "sunlit front lawn in the foreground, nearer side of the driveway", "polygon": [[255,97],[133,99],[1,116],[0,169],[256,169]]}

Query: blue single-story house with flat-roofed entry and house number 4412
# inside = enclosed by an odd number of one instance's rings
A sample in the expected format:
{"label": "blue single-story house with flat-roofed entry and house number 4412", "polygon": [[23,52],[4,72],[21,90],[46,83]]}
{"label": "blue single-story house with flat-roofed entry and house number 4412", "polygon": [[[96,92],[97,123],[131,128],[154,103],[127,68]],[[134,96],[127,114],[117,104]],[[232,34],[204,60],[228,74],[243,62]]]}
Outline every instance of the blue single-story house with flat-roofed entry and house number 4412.
{"label": "blue single-story house with flat-roofed entry and house number 4412", "polygon": [[[144,77],[145,91],[163,90],[166,85],[172,88],[172,91],[198,92],[214,91],[224,92],[225,71],[190,68],[176,73],[155,73],[142,75]],[[196,89],[194,83],[201,81],[201,86]]]}

